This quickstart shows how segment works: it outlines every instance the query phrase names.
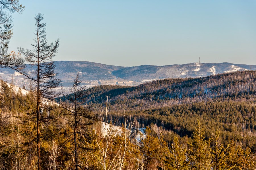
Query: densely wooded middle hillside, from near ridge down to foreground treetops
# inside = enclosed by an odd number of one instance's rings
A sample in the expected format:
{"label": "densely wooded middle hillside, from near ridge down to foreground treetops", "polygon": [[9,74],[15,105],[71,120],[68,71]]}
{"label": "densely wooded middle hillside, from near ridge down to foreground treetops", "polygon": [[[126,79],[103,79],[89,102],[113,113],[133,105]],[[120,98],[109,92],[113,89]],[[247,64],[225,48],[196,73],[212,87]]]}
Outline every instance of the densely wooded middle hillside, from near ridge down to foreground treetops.
{"label": "densely wooded middle hillside, from near ridge down to foreground treetops", "polygon": [[200,120],[207,138],[218,128],[224,144],[232,139],[251,147],[256,142],[255,84],[255,71],[238,71],[156,80],[136,87],[96,86],[86,90],[86,98],[99,113],[108,97],[112,120],[120,119],[125,109],[127,115],[137,117],[138,125],[155,124],[181,137],[191,137]]}

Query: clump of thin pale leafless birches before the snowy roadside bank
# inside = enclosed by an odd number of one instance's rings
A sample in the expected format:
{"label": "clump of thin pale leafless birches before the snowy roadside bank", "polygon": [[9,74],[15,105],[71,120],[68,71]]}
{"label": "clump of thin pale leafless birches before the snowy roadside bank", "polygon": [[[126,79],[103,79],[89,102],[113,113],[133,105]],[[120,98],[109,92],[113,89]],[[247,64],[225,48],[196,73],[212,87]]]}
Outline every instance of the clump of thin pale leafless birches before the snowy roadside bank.
{"label": "clump of thin pale leafless birches before the snowy roadside bank", "polygon": [[[95,156],[92,152],[92,156],[98,161],[98,163],[102,166],[104,170],[123,170],[125,168],[125,163],[127,163],[127,154],[131,148],[131,140],[129,137],[131,136],[132,128],[135,121],[131,121],[123,112],[124,117],[124,125],[122,130],[120,128],[115,127],[113,125],[109,125],[109,106],[108,106],[108,98],[106,101],[106,109],[101,115],[101,123],[102,123],[102,134],[103,139],[97,137],[97,133],[95,131],[96,136],[96,145],[99,151],[99,157]],[[115,138],[119,135],[118,142],[115,141]]]}

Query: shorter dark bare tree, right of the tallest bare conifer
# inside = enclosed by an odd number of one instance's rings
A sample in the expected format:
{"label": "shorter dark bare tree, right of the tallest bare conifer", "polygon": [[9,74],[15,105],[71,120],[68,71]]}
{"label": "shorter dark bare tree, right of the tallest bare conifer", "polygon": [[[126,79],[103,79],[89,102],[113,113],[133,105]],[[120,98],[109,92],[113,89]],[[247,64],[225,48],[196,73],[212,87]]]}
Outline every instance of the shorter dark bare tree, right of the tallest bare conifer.
{"label": "shorter dark bare tree, right of the tallest bare conifer", "polygon": [[[67,117],[69,126],[73,129],[73,145],[75,153],[75,169],[78,167],[84,169],[79,165],[78,149],[88,149],[84,144],[88,139],[88,126],[92,125],[95,121],[98,121],[98,116],[92,112],[90,105],[85,106],[87,92],[85,86],[80,86],[81,80],[79,79],[79,73],[73,82],[70,89],[71,94],[65,94],[62,89],[64,102],[60,102],[60,107],[67,110],[64,115]],[[86,131],[87,129],[87,131]]]}

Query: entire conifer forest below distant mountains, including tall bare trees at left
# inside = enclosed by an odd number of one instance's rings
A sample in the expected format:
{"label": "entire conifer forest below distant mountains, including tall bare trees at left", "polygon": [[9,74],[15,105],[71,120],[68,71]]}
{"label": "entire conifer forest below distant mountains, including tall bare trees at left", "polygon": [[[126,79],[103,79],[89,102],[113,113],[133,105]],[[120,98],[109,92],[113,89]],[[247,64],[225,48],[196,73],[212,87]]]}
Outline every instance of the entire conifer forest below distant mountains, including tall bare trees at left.
{"label": "entire conifer forest below distant mountains, including tall bare trees at left", "polygon": [[0,81],[1,170],[256,170],[256,71],[91,88],[76,72],[67,92],[43,14],[31,48],[8,52],[24,10],[0,1],[0,67],[30,82]]}

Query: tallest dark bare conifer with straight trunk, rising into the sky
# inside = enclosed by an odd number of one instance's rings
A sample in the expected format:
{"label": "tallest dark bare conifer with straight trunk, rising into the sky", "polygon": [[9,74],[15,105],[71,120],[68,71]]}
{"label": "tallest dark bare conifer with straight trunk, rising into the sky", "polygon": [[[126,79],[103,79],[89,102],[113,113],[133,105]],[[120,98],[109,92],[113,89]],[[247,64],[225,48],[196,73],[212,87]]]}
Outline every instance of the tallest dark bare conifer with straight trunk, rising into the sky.
{"label": "tallest dark bare conifer with straight trunk, rising into the sky", "polygon": [[[33,50],[24,50],[18,48],[21,55],[24,55],[24,60],[32,65],[35,65],[35,71],[31,73],[26,72],[24,69],[26,65],[10,65],[12,69],[20,72],[26,78],[30,79],[36,84],[36,129],[37,129],[37,157],[38,157],[38,170],[41,170],[41,150],[40,150],[40,123],[42,119],[40,112],[42,111],[42,105],[44,99],[50,99],[56,97],[56,92],[53,90],[59,86],[60,80],[56,78],[57,73],[54,72],[55,65],[52,62],[53,57],[57,54],[59,47],[59,40],[48,44],[46,40],[46,24],[42,23],[43,14],[37,14],[36,20],[36,38],[32,43]],[[13,54],[13,58],[19,59],[19,55]]]}

